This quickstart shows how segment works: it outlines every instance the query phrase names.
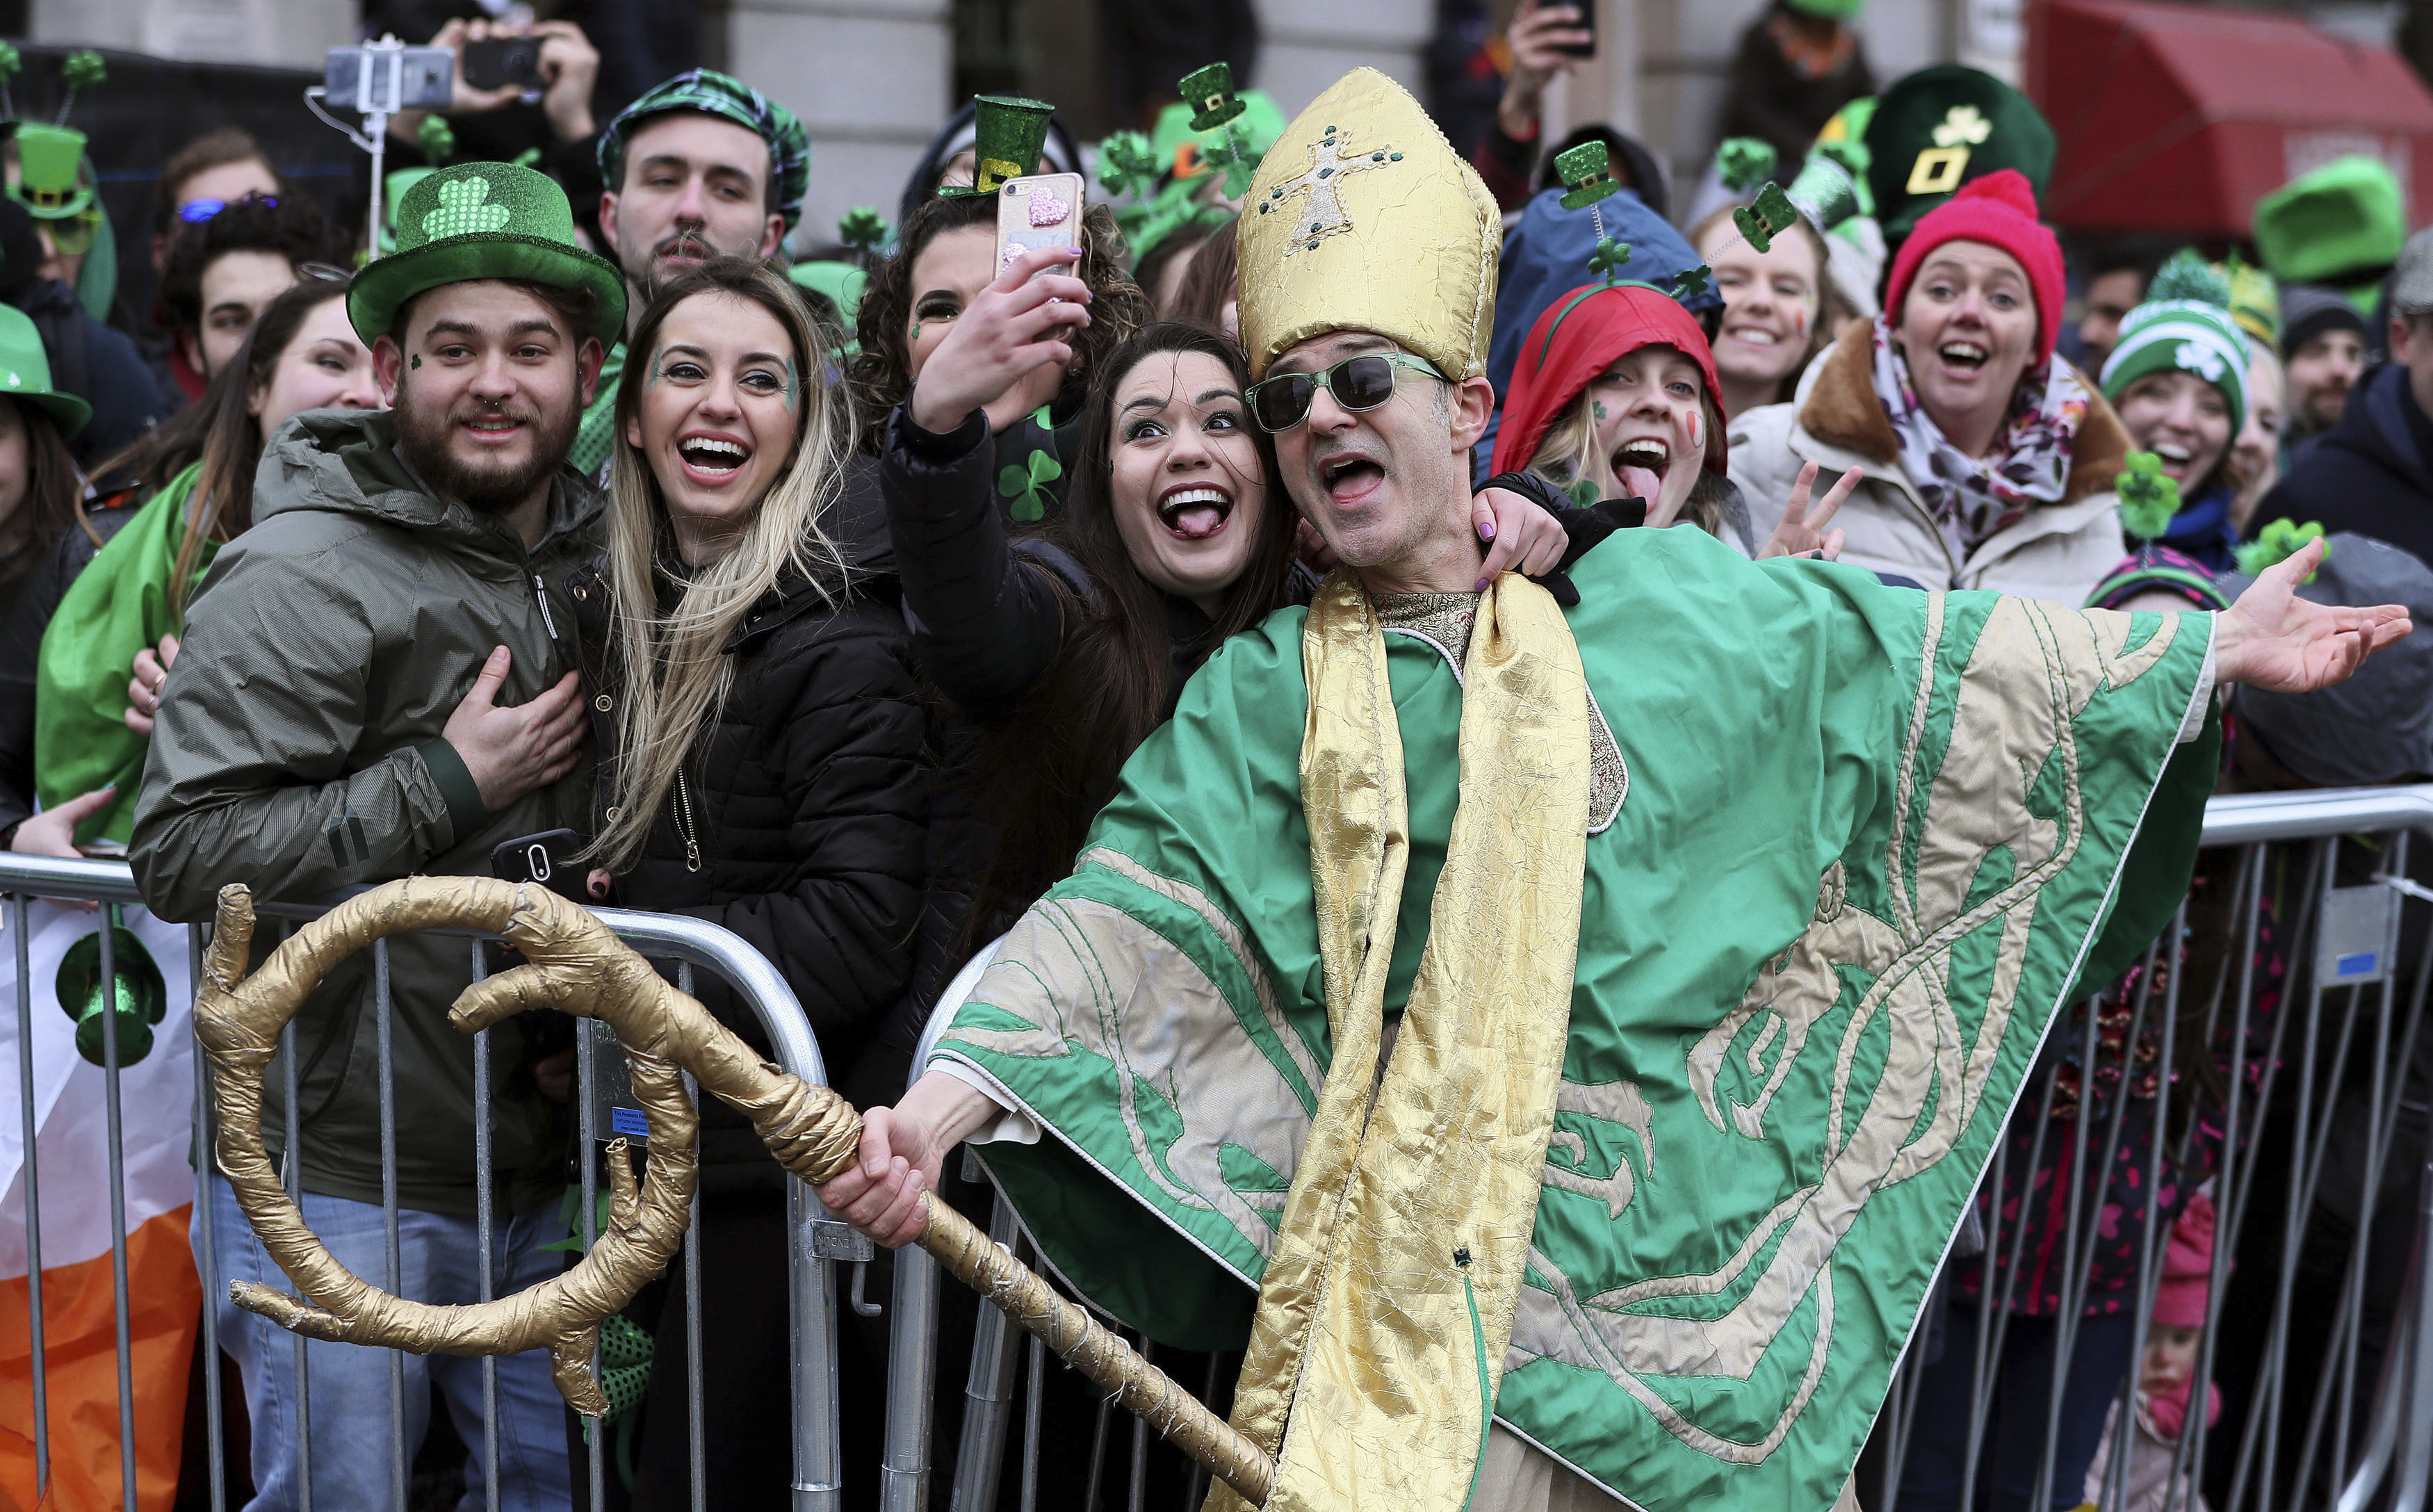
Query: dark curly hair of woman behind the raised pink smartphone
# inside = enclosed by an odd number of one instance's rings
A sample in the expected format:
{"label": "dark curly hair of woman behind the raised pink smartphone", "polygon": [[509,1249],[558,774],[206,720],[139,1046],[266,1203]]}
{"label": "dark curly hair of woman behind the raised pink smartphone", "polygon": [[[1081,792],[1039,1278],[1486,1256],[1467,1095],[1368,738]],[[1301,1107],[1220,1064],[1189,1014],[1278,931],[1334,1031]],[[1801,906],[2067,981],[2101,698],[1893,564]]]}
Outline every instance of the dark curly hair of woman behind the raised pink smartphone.
{"label": "dark curly hair of woman behind the raised pink smartphone", "polygon": [[[864,450],[883,446],[888,411],[912,392],[912,343],[905,338],[912,324],[912,263],[946,231],[995,224],[995,195],[932,195],[905,222],[895,256],[871,273],[861,309],[854,314],[861,353],[847,370]],[[1124,270],[1124,234],[1114,229],[1114,214],[1105,205],[1092,205],[1080,224],[1080,280],[1090,285],[1095,299],[1090,324],[1073,336],[1073,365],[1066,370],[1071,397],[1083,392],[1088,377],[1126,336],[1148,324],[1148,295]]]}

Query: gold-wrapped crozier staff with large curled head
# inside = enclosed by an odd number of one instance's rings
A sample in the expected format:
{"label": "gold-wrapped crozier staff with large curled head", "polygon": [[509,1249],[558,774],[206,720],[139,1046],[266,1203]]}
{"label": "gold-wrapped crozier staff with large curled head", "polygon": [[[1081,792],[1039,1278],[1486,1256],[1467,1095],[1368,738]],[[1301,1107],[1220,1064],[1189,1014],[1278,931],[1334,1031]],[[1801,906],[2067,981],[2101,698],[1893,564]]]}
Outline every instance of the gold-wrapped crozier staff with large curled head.
{"label": "gold-wrapped crozier staff with large curled head", "polygon": [[[572,1271],[511,1298],[436,1307],[392,1298],[353,1276],[304,1227],[263,1149],[263,1069],[280,1030],[321,976],[372,940],[409,930],[472,928],[499,935],[526,964],[474,981],[448,1018],[467,1035],[526,1008],[599,1018],[616,1030],[633,1066],[633,1091],[650,1118],[650,1166],[637,1183],[623,1139],[608,1144],[608,1227]],[[547,1349],[560,1395],[599,1417],[608,1398],[591,1376],[601,1320],[633,1300],[684,1237],[693,1200],[693,1105],[681,1071],[752,1120],[779,1164],[822,1183],[854,1164],[861,1115],[825,1086],[779,1071],[676,991],[650,962],[579,903],[533,884],[491,877],[409,877],[348,898],[287,937],[246,976],[253,898],[219,891],[219,925],[204,957],[195,1035],[212,1062],[219,1113],[217,1161],[238,1208],[302,1298],[251,1281],[229,1286],[238,1307],[307,1339],[411,1349],[414,1354],[521,1354]],[[1275,1478],[1258,1444],[1199,1405],[1090,1315],[1019,1266],[968,1217],[922,1193],[920,1247],[1007,1317],[1046,1342],[1068,1366],[1112,1393],[1178,1449],[1246,1500],[1265,1505]]]}

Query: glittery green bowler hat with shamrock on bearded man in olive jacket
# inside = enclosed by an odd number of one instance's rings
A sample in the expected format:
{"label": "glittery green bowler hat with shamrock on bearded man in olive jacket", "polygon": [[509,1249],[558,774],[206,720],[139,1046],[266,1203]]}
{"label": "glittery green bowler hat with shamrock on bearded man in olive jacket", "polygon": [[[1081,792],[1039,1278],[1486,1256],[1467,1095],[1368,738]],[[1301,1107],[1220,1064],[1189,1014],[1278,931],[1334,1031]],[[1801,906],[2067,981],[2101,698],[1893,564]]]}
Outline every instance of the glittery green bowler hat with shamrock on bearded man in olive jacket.
{"label": "glittery green bowler hat with shamrock on bearded man in olive jacket", "polygon": [[365,346],[387,336],[397,309],[443,282],[521,278],[599,295],[591,334],[625,329],[625,275],[574,241],[567,192],[516,163],[450,163],[397,202],[397,251],[370,263],[345,292],[345,319]]}

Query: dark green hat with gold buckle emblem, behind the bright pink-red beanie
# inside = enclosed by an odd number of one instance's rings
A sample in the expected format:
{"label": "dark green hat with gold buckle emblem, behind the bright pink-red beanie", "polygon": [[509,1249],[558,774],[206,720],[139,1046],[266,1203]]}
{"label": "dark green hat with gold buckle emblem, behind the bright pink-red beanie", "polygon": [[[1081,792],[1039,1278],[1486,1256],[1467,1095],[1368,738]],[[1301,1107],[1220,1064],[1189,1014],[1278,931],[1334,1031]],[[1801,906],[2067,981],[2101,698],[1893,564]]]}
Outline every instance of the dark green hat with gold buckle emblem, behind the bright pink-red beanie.
{"label": "dark green hat with gold buckle emblem, behind the bright pink-red beanie", "polygon": [[1917,217],[1995,168],[2024,173],[2036,200],[2053,173],[2053,127],[2000,78],[1966,63],[1937,63],[1876,97],[1866,122],[1866,187],[1886,241],[1898,243]]}

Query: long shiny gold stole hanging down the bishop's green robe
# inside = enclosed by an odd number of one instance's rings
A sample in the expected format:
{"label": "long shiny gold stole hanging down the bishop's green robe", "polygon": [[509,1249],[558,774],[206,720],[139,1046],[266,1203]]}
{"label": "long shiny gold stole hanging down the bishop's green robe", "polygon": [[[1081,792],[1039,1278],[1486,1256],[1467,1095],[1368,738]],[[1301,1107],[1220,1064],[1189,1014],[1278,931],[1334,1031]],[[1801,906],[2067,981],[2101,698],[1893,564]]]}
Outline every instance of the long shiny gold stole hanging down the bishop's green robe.
{"label": "long shiny gold stole hanging down the bishop's green robe", "polygon": [[[1506,572],[1462,672],[1462,791],[1428,947],[1377,1076],[1409,864],[1384,633],[1333,572],[1302,633],[1302,808],[1333,1064],[1285,1200],[1234,1427],[1272,1512],[1470,1502],[1538,1215],[1579,954],[1589,684],[1555,599]],[[1241,1512],[1224,1483],[1207,1512]]]}

